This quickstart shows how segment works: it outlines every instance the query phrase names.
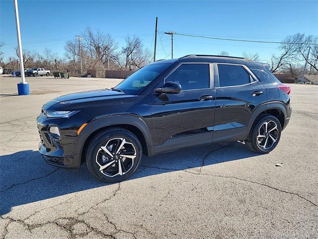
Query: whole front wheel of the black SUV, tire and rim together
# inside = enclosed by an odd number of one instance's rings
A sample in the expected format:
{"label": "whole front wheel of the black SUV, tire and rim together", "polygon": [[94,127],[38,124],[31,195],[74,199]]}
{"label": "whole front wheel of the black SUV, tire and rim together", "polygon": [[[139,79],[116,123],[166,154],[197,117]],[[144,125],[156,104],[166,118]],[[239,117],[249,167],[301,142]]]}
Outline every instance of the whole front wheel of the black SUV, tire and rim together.
{"label": "whole front wheel of the black SUV, tire and rim together", "polygon": [[142,155],[142,145],[133,133],[113,127],[93,136],[87,145],[85,158],[88,170],[95,178],[115,183],[126,180],[136,171]]}

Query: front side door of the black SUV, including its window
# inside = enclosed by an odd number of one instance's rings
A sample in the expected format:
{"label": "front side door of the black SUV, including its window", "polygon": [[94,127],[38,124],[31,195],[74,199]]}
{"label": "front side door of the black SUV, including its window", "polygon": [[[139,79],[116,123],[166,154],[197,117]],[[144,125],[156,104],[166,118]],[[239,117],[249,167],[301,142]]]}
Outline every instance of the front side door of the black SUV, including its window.
{"label": "front side door of the black SUV, including its window", "polygon": [[180,84],[181,92],[152,92],[156,153],[212,142],[215,113],[213,65],[182,63],[161,84],[164,82]]}

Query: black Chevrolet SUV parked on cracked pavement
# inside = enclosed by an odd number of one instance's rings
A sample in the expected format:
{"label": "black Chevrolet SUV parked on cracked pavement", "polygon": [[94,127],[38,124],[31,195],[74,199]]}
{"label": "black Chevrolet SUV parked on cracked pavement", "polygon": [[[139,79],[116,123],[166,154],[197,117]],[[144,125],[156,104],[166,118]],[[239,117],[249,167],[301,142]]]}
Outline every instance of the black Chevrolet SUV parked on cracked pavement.
{"label": "black Chevrolet SUV parked on cracked pavement", "polygon": [[290,87],[262,63],[188,55],[149,64],[116,87],[58,97],[37,118],[39,151],[54,166],[87,163],[105,182],[127,179],[142,155],[244,141],[258,153],[279,142]]}

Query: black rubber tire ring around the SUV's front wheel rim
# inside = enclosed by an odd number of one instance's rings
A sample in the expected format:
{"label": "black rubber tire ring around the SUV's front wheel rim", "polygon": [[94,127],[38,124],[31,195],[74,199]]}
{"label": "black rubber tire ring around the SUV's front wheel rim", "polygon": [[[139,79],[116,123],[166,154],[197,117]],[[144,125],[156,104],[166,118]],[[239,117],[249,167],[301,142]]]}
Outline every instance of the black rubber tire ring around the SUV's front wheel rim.
{"label": "black rubber tire ring around the SUV's front wheel rim", "polygon": [[[107,177],[106,175],[102,174],[99,171],[99,166],[96,163],[96,154],[100,146],[104,146],[110,139],[112,138],[125,138],[131,142],[135,149],[136,149],[136,158],[134,159],[133,167],[124,175],[118,175],[115,177]],[[115,183],[126,180],[129,178],[138,168],[141,158],[142,158],[142,146],[138,140],[138,138],[132,134],[130,131],[125,129],[118,129],[118,130],[111,130],[105,131],[103,133],[96,134],[96,136],[90,141],[88,146],[88,150],[86,153],[86,164],[90,171],[90,173],[95,176],[97,179],[108,182],[108,183]]]}

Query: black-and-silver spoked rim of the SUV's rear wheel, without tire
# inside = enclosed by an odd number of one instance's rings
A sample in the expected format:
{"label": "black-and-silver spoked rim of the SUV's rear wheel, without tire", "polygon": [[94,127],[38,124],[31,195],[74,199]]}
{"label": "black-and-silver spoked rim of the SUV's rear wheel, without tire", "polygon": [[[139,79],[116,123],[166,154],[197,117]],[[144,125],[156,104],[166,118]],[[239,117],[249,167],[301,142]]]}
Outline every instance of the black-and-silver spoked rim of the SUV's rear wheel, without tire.
{"label": "black-and-silver spoked rim of the SUV's rear wheel, without tire", "polygon": [[262,149],[271,148],[277,141],[278,133],[277,124],[273,120],[268,120],[262,123],[262,125],[258,128],[258,134],[256,137],[258,147]]}

